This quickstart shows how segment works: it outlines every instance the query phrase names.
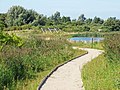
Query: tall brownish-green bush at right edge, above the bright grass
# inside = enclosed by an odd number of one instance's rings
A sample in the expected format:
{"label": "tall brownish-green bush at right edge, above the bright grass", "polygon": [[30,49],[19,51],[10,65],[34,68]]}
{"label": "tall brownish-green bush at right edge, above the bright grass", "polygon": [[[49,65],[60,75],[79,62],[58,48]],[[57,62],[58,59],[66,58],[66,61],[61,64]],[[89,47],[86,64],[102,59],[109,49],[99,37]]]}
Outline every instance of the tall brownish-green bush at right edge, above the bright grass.
{"label": "tall brownish-green bush at right edge, above the bright grass", "polygon": [[109,62],[120,63],[120,34],[107,35],[104,49]]}

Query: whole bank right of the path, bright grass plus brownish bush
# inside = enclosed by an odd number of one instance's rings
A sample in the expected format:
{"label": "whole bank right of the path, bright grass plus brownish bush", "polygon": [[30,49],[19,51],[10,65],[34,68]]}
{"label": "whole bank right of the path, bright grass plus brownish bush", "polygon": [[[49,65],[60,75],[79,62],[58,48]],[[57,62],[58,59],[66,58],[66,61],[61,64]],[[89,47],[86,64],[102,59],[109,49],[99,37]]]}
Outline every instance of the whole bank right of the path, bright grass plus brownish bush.
{"label": "whole bank right of the path, bright grass plus brownish bush", "polygon": [[105,37],[105,53],[83,67],[82,79],[86,90],[120,89],[120,37]]}

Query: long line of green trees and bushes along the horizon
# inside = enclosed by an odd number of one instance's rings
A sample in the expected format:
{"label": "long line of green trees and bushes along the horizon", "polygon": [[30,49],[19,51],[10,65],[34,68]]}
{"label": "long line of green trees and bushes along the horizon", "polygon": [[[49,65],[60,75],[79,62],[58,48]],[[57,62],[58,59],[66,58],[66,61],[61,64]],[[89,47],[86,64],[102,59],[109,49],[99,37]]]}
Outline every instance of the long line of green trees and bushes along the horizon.
{"label": "long line of green trees and bushes along the horizon", "polygon": [[12,6],[7,13],[0,13],[0,30],[10,27],[14,27],[13,29],[19,27],[21,30],[31,26],[58,26],[65,31],[96,31],[98,29],[100,31],[120,31],[120,19],[109,17],[104,20],[97,16],[92,19],[86,18],[84,14],[81,14],[78,19],[71,19],[68,16],[61,17],[58,11],[47,17],[21,6]]}

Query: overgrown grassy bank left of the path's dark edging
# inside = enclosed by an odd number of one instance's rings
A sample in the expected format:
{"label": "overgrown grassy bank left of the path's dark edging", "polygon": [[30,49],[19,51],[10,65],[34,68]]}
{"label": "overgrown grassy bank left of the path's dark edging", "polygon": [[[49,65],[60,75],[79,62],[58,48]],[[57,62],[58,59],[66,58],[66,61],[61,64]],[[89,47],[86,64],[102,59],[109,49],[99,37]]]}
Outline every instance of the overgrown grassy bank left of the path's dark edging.
{"label": "overgrown grassy bank left of the path's dark edging", "polygon": [[[6,37],[5,40],[12,42],[14,39]],[[65,38],[57,35],[34,32],[22,39],[20,47],[13,43],[0,43],[3,45],[0,51],[0,90],[36,90],[54,67],[85,53],[73,50]]]}

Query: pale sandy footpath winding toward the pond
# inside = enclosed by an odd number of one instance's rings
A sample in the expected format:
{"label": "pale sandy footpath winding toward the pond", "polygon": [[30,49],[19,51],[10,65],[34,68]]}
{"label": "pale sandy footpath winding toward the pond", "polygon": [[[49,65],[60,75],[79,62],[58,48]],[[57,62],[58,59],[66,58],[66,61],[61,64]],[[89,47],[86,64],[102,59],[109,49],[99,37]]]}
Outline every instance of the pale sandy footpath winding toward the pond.
{"label": "pale sandy footpath winding toward the pond", "polygon": [[81,69],[84,64],[100,55],[103,51],[84,48],[88,54],[59,67],[40,90],[84,90]]}

